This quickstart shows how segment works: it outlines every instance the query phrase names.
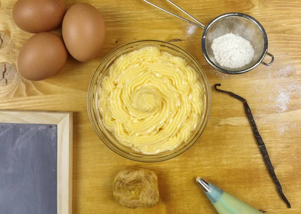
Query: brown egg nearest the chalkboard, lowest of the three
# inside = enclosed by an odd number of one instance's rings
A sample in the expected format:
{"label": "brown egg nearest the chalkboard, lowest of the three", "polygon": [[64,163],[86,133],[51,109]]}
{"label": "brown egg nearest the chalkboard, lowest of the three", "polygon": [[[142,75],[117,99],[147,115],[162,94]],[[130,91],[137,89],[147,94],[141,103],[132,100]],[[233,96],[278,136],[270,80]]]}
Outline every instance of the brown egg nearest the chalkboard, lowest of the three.
{"label": "brown egg nearest the chalkboard, lowest of the three", "polygon": [[52,32],[40,32],[26,41],[18,56],[18,69],[24,78],[43,80],[55,75],[67,60],[63,39]]}

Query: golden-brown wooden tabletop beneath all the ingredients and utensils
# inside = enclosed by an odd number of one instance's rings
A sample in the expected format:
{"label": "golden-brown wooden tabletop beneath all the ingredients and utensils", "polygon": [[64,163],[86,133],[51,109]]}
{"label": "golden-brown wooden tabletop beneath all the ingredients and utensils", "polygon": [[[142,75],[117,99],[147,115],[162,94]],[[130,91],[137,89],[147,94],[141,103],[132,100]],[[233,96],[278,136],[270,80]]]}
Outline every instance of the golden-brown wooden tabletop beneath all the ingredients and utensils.
{"label": "golden-brown wooden tabletop beneath all the ingredients and utensils", "polygon": [[[0,0],[0,30],[4,40],[0,62],[13,65],[12,68],[6,65],[8,81],[0,81],[0,108],[74,112],[73,213],[216,213],[195,182],[196,176],[203,176],[267,213],[301,213],[300,0],[174,0],[204,24],[219,14],[237,11],[255,17],[265,27],[268,51],[275,56],[275,62],[269,67],[261,64],[241,75],[226,75],[207,64],[201,52],[201,28],[142,0],[86,0],[105,18],[106,39],[101,55],[87,63],[69,57],[56,76],[37,82],[22,79],[14,71],[20,48],[32,36],[12,21],[15,1]],[[80,0],[65,2],[70,7]],[[153,2],[177,12],[167,2]],[[177,39],[173,43],[200,62],[210,85],[220,82],[223,89],[248,100],[291,209],[286,208],[276,191],[242,103],[226,94],[212,90],[211,115],[204,133],[194,146],[174,159],[135,162],[119,156],[101,142],[87,113],[91,76],[111,50],[141,39]],[[4,70],[4,64],[0,68]],[[161,199],[155,207],[128,209],[114,200],[114,176],[130,165],[158,173]]]}

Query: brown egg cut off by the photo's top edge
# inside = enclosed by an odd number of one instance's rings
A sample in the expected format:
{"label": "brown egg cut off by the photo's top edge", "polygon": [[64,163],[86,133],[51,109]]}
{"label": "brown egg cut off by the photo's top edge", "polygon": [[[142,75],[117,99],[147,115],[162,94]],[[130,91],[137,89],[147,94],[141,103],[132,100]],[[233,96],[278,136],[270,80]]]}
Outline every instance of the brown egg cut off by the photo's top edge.
{"label": "brown egg cut off by the photo's top edge", "polygon": [[13,8],[17,26],[32,33],[57,28],[65,13],[64,0],[18,0]]}

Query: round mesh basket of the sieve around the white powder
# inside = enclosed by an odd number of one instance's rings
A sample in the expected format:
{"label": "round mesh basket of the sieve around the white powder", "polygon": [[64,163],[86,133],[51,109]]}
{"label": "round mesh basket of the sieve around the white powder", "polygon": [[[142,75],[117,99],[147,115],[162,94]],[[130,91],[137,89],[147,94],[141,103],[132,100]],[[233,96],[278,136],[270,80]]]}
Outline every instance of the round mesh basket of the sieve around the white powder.
{"label": "round mesh basket of the sieve around the white powder", "polygon": [[[262,29],[260,29],[254,21],[246,17],[229,15],[221,18],[216,18],[211,22],[211,24],[208,25],[207,30],[204,33],[205,51],[204,49],[203,51],[205,56],[207,55],[207,57],[212,61],[212,63],[226,71],[229,70],[234,72],[242,72],[244,70],[249,69],[256,63],[258,63],[258,61],[261,61],[267,49],[267,39],[264,39],[266,37],[265,32],[263,32]],[[239,35],[250,41],[252,47],[254,48],[254,57],[250,61],[250,63],[240,68],[228,68],[225,66],[221,66],[215,60],[211,48],[213,39],[227,33]]]}

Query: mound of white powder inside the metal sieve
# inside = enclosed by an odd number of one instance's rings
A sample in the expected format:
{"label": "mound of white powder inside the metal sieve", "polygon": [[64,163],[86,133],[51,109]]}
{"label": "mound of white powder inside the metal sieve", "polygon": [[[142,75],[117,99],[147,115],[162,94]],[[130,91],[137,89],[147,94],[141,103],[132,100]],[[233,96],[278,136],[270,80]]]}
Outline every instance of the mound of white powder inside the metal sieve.
{"label": "mound of white powder inside the metal sieve", "polygon": [[243,67],[250,63],[254,56],[251,43],[233,33],[227,33],[213,39],[211,48],[215,60],[227,68]]}

